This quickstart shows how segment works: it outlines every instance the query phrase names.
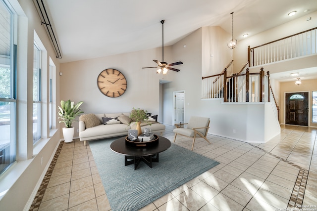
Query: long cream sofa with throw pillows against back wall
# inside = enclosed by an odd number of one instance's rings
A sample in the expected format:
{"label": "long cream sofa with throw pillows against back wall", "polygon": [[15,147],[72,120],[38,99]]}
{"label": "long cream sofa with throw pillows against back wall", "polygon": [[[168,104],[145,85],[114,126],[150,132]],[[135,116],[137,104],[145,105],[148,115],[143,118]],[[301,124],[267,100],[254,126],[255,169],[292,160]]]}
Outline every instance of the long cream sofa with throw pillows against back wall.
{"label": "long cream sofa with throw pillows against back wall", "polygon": [[[79,139],[80,141],[84,141],[84,145],[86,146],[86,141],[128,135],[128,130],[135,129],[136,127],[135,122],[130,122],[131,119],[129,116],[130,113],[81,115],[79,117]],[[106,125],[104,125],[105,119],[110,119],[106,122]],[[155,119],[152,118],[150,118],[150,122],[141,123],[142,132],[144,132],[145,127],[150,128],[154,133],[160,132],[160,135],[165,131],[165,126],[155,122]]]}

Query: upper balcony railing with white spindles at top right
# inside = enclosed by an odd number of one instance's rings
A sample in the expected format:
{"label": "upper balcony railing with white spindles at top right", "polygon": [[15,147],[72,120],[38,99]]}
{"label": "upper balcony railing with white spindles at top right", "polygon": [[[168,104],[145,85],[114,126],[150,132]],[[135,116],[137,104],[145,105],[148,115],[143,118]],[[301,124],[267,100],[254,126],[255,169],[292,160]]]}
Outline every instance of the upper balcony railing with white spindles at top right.
{"label": "upper balcony railing with white spindles at top right", "polygon": [[248,46],[249,67],[317,53],[317,27],[285,38]]}

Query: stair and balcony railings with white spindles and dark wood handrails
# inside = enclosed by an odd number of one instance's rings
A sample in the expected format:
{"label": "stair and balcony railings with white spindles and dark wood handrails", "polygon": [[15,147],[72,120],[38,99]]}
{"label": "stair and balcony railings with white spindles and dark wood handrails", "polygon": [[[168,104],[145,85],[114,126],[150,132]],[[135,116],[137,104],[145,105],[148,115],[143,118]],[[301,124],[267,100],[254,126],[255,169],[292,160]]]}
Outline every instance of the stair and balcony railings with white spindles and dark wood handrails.
{"label": "stair and balcony railings with white spindles and dark wood handrails", "polygon": [[[228,73],[233,60],[220,74],[203,77],[203,99],[223,98],[223,102],[271,102],[276,118],[279,107],[269,83],[266,64],[317,53],[317,27],[256,47],[248,46],[248,61],[239,73]],[[249,68],[253,72],[249,72]],[[258,68],[258,72],[256,69]]]}

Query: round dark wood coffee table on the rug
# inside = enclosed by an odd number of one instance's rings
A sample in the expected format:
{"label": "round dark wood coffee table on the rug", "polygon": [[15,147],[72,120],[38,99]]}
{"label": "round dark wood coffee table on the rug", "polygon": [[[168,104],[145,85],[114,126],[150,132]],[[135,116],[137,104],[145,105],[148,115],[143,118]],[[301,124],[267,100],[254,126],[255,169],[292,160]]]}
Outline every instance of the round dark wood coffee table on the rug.
{"label": "round dark wood coffee table on the rug", "polygon": [[124,166],[134,164],[134,170],[137,169],[141,161],[152,168],[152,162],[159,162],[159,153],[169,147],[170,141],[162,136],[159,136],[157,144],[148,147],[126,145],[125,137],[121,137],[110,144],[113,152],[124,155]]}

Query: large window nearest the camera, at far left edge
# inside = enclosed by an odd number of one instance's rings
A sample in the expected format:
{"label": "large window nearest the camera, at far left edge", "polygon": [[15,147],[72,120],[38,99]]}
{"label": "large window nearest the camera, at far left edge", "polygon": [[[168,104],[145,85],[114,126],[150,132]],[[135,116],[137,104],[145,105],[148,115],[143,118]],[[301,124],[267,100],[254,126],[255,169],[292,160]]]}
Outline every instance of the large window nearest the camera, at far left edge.
{"label": "large window nearest the camera, at far left edge", "polygon": [[16,45],[14,14],[0,0],[0,173],[16,160]]}

